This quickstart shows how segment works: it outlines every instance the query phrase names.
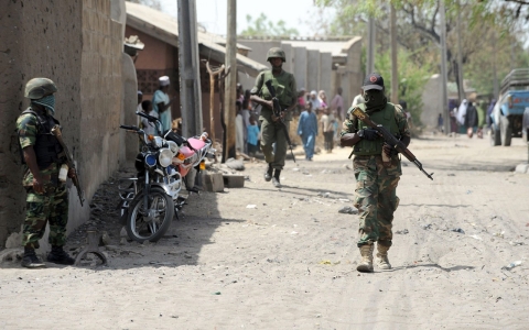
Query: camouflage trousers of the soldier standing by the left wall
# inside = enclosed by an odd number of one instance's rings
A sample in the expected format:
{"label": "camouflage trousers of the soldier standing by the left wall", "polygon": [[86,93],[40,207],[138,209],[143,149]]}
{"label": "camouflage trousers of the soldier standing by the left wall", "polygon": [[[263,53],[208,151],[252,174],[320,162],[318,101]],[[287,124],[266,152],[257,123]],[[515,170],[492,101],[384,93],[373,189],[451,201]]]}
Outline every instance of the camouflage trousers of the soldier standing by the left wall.
{"label": "camouflage trousers of the soldier standing by the left wall", "polygon": [[22,245],[39,249],[39,241],[44,235],[50,222],[47,241],[52,245],[63,246],[66,243],[66,223],[68,222],[68,191],[62,186],[46,188],[46,193],[36,194],[29,188]]}

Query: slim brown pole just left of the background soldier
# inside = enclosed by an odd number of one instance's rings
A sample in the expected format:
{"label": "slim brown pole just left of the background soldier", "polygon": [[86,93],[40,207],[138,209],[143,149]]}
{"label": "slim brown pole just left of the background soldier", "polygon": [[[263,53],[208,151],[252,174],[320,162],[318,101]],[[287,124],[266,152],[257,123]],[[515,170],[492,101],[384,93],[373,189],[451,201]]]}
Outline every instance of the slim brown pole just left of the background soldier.
{"label": "slim brown pole just left of the background soldier", "polygon": [[236,156],[235,153],[235,101],[237,89],[237,0],[228,0],[228,22],[226,33],[226,61],[225,65],[231,68],[231,75],[226,77],[226,109],[224,121],[226,122],[226,145],[223,148],[223,163]]}

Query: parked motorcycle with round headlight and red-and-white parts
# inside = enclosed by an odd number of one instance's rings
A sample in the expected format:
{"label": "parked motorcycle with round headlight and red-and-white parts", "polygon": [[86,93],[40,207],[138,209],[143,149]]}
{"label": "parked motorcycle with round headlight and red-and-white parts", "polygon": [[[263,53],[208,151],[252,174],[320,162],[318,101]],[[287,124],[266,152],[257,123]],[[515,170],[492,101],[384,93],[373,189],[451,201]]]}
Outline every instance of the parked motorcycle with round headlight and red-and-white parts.
{"label": "parked motorcycle with round headlight and red-and-white parts", "polygon": [[148,135],[137,127],[120,127],[136,132],[142,142],[134,162],[137,177],[119,184],[121,219],[126,219],[129,238],[140,243],[145,240],[155,242],[169,230],[173,217],[177,218],[185,205],[185,199],[180,196],[183,179],[192,167],[197,167],[198,172],[205,168],[204,158],[214,157],[215,150],[210,147],[207,133],[190,139],[171,130],[162,134],[158,118],[143,112],[137,114],[154,124],[158,134],[163,138]]}

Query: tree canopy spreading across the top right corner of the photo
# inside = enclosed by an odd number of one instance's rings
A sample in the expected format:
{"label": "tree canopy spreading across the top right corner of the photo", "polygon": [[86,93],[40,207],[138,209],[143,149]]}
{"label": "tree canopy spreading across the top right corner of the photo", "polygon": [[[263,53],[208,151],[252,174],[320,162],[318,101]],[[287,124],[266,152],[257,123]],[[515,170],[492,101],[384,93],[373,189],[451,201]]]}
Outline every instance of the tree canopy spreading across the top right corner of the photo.
{"label": "tree canopy spreading across the top right corner of the photo", "polygon": [[[336,18],[328,23],[331,30],[345,32],[352,25],[377,18],[378,52],[389,50],[388,13],[392,3],[398,9],[399,44],[410,52],[409,59],[415,63],[440,63],[439,1],[435,0],[316,0],[319,6],[333,7]],[[496,54],[498,77],[510,66],[526,66],[527,52],[519,31],[527,30],[529,1],[525,0],[446,0],[446,56],[449,79],[457,81],[456,14],[462,13],[462,57],[465,78],[478,78],[481,92],[493,90],[493,53]],[[363,28],[356,28],[361,30]],[[498,33],[499,32],[499,33]],[[496,34],[497,44],[493,50],[490,36]],[[511,57],[509,59],[509,56]],[[507,59],[507,61],[501,61]],[[476,64],[479,63],[481,67]],[[468,72],[472,70],[472,72]],[[468,74],[466,74],[468,72]],[[476,86],[477,87],[477,86]]]}

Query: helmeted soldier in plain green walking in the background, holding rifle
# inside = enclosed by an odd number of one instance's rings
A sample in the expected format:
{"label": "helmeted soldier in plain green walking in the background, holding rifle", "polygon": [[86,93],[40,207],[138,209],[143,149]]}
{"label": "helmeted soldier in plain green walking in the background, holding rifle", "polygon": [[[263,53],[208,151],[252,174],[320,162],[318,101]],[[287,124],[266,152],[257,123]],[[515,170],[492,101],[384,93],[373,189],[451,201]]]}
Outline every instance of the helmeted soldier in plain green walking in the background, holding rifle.
{"label": "helmeted soldier in plain green walking in the background, holding rifle", "polygon": [[[280,188],[279,177],[284,166],[288,143],[284,130],[279,121],[283,119],[287,131],[289,131],[292,111],[298,105],[298,91],[294,76],[282,69],[283,62],[287,61],[284,52],[278,47],[270,48],[267,54],[267,61],[270,62],[272,69],[264,70],[257,76],[256,86],[250,91],[250,99],[262,106],[261,116],[259,117],[262,133],[261,150],[268,163],[264,180],[272,180],[273,186]],[[272,80],[276,89],[276,97],[279,99],[282,110],[281,118],[273,116],[272,96],[264,85],[268,80]],[[273,153],[273,143],[276,143],[276,153]]]}

